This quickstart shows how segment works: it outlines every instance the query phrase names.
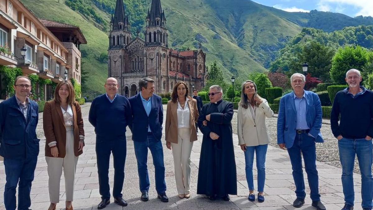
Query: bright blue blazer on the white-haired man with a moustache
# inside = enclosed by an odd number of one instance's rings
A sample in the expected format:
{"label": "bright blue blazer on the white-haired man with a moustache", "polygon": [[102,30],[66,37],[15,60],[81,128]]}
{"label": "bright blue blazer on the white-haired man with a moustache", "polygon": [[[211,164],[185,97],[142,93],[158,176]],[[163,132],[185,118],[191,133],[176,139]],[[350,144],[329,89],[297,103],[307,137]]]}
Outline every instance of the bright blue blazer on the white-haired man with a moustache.
{"label": "bright blue blazer on the white-haired man with a moustache", "polygon": [[[323,112],[321,102],[316,93],[305,90],[306,121],[316,142],[324,142],[320,133]],[[297,112],[294,104],[294,91],[282,96],[277,119],[277,143],[285,143],[291,148],[294,143],[297,127]]]}

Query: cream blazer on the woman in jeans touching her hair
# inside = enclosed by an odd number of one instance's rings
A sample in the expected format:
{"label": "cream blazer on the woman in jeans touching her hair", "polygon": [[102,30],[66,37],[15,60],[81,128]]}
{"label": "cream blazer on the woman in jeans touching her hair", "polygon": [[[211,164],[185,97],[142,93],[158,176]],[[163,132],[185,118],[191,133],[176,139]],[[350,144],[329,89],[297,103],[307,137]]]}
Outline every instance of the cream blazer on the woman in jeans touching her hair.
{"label": "cream blazer on the woman in jeans touching her hair", "polygon": [[256,108],[255,122],[251,115],[250,108],[238,106],[237,113],[237,133],[238,144],[246,146],[264,145],[270,142],[266,117],[273,117],[273,111],[269,107],[266,99]]}

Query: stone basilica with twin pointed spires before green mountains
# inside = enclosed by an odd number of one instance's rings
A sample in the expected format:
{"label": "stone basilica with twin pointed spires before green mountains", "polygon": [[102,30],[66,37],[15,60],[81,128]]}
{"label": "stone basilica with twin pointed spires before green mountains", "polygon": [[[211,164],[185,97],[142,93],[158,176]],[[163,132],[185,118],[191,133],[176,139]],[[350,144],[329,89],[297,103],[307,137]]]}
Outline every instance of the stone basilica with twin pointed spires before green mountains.
{"label": "stone basilica with twin pointed spires before green mountains", "polygon": [[166,16],[160,0],[152,0],[146,19],[145,40],[132,38],[123,0],[116,1],[109,32],[108,75],[119,83],[121,95],[133,96],[140,90],[142,77],[154,81],[155,93],[172,92],[179,81],[195,89],[204,87],[206,53],[202,49],[177,51],[168,47]]}

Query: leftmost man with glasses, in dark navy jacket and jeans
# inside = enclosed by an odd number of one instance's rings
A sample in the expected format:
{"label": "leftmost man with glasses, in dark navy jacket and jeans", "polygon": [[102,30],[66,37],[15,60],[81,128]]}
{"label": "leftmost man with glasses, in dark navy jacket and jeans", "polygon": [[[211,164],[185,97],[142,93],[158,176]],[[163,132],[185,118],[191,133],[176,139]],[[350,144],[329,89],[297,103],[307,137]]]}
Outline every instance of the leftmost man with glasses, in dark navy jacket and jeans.
{"label": "leftmost man with glasses, in dark navy jacket and jeans", "polygon": [[31,182],[34,180],[40,141],[36,136],[38,104],[28,98],[31,81],[28,77],[19,76],[13,88],[15,96],[0,104],[0,155],[4,157],[4,206],[7,210],[16,209],[17,184],[18,209],[31,206]]}

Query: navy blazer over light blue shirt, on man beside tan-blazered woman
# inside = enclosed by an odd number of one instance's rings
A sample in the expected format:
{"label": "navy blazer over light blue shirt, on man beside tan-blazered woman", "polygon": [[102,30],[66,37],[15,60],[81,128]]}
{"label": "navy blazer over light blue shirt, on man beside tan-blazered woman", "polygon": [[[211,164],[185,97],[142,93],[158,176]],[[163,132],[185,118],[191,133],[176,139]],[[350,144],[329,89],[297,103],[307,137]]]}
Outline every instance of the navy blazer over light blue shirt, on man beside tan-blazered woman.
{"label": "navy blazer over light blue shirt, on man beside tan-blazered woman", "polygon": [[157,140],[162,138],[163,106],[160,96],[153,94],[151,96],[151,111],[149,116],[142,105],[140,93],[129,98],[132,109],[132,123],[129,128],[132,131],[132,140],[144,142],[148,136],[148,126]]}

